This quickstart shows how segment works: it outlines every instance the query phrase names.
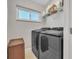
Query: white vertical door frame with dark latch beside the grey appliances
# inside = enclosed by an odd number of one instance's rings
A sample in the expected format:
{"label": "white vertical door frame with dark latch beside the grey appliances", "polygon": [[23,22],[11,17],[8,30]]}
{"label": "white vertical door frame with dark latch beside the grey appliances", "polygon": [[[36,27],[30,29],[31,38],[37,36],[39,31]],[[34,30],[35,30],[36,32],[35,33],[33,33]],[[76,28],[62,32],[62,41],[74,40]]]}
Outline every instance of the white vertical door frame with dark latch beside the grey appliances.
{"label": "white vertical door frame with dark latch beside the grey appliances", "polygon": [[72,59],[72,0],[64,0],[64,59]]}

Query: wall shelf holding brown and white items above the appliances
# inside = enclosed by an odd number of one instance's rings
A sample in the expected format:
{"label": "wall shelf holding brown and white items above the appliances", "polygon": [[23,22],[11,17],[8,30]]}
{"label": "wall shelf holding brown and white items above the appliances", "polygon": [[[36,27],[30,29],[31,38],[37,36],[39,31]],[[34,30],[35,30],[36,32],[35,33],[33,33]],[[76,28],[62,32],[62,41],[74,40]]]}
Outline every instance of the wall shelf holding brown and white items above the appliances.
{"label": "wall shelf holding brown and white items above the appliances", "polygon": [[63,11],[63,3],[62,3],[62,1],[58,1],[57,3],[48,5],[46,10],[43,12],[42,17],[46,18],[50,15],[56,14],[61,11]]}

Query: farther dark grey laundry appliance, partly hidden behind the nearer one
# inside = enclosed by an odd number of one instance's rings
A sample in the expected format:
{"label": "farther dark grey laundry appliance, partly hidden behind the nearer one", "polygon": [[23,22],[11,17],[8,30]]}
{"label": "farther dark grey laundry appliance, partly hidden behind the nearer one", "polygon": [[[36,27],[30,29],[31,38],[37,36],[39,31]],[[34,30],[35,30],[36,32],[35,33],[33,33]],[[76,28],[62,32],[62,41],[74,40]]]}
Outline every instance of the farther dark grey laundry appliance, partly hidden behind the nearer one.
{"label": "farther dark grey laundry appliance, partly hidden behind the nearer one", "polygon": [[50,30],[51,28],[41,28],[41,29],[36,29],[32,30],[32,51],[34,55],[38,58],[38,49],[39,49],[39,35],[42,31]]}

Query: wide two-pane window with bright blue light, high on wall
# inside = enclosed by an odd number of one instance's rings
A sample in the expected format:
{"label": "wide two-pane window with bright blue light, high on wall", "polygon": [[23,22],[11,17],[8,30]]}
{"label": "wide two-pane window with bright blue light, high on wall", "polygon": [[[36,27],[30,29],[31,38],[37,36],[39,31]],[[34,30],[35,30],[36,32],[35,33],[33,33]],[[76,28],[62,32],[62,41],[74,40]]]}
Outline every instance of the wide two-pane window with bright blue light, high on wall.
{"label": "wide two-pane window with bright blue light, high on wall", "polygon": [[32,9],[17,7],[17,20],[40,22],[41,13]]}

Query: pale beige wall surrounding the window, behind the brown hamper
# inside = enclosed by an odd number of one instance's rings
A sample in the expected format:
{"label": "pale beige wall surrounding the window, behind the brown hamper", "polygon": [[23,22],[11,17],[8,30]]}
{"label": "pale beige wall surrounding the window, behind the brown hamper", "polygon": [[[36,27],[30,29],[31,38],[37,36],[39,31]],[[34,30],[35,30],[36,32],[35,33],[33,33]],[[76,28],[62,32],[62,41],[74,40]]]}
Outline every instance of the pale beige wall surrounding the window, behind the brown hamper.
{"label": "pale beige wall surrounding the window, behind the brown hamper", "polygon": [[31,47],[31,30],[43,26],[43,23],[16,21],[16,5],[42,11],[42,6],[27,0],[8,0],[8,42],[13,38],[24,38],[25,47]]}

